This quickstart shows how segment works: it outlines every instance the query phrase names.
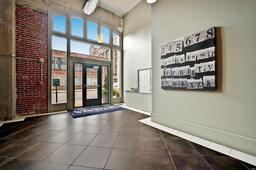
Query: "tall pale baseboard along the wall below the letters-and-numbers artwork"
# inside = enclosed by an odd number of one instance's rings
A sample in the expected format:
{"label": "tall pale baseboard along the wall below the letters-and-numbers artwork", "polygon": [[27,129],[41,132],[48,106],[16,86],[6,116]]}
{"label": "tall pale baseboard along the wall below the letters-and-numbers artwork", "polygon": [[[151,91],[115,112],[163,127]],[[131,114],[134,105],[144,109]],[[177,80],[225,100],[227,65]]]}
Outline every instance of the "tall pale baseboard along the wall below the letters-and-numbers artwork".
{"label": "tall pale baseboard along the wall below the letters-and-numbers artwork", "polygon": [[228,148],[256,156],[256,140],[252,138],[196,125],[155,113],[151,113],[151,121],[187,134],[191,134],[193,136],[198,136],[199,138],[208,140],[210,142],[221,144]]}

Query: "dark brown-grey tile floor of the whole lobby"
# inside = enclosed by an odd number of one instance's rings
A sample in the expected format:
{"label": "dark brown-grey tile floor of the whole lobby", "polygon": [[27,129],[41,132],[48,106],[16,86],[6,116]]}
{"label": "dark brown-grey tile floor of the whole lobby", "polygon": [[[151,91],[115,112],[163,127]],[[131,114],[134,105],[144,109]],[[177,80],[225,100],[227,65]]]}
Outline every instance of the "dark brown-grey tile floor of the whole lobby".
{"label": "dark brown-grey tile floor of the whole lobby", "polygon": [[0,170],[252,170],[255,166],[140,123],[131,110],[0,127]]}

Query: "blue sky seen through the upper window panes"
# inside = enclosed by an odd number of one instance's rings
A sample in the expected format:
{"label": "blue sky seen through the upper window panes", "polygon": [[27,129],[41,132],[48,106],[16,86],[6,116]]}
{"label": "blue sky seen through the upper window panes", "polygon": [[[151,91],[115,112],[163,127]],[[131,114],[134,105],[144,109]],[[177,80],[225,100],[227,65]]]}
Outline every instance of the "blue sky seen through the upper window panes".
{"label": "blue sky seen through the upper window panes", "polygon": [[[53,30],[65,33],[65,16],[54,16]],[[83,25],[84,20],[80,18],[72,18],[71,20],[71,33],[74,36],[83,37]],[[87,36],[89,39],[97,40],[97,24],[87,21]],[[103,42],[109,42],[109,30],[101,26],[101,34],[103,34]],[[114,33],[114,36],[116,34]],[[90,44],[71,41],[71,52],[89,54]],[[52,49],[66,51],[66,39],[59,37],[52,37]]]}

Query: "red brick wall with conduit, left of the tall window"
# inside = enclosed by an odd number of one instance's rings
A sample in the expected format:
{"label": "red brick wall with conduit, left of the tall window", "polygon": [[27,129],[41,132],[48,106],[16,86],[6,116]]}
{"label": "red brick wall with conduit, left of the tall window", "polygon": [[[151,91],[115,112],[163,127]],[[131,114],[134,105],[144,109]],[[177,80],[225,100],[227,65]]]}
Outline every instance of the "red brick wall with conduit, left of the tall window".
{"label": "red brick wall with conduit, left of the tall window", "polygon": [[47,108],[48,14],[16,4],[16,56],[32,59],[16,59],[16,114],[35,114]]}

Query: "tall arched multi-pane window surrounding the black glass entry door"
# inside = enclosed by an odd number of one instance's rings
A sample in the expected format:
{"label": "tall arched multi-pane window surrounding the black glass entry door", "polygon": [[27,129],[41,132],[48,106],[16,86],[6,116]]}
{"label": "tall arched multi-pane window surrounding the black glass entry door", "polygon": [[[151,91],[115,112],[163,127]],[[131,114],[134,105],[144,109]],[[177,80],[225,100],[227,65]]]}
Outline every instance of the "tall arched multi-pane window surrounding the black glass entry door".
{"label": "tall arched multi-pane window surrounding the black glass entry door", "polygon": [[[85,16],[49,11],[49,32],[51,44],[52,104],[67,102],[70,88],[80,90],[82,82],[82,64],[75,63],[74,82],[67,80],[72,71],[71,59],[79,57],[82,62],[101,60],[113,67],[112,81],[120,87],[120,45],[121,35],[107,25]],[[103,42],[97,42],[97,34],[103,34]],[[112,52],[110,52],[112,51]],[[111,56],[113,55],[113,56]],[[118,56],[118,58],[116,58]],[[83,59],[84,58],[84,61]],[[107,74],[107,73],[106,73]],[[93,82],[88,78],[88,82]],[[74,85],[74,86],[72,86]],[[81,89],[82,90],[82,89]],[[120,89],[117,89],[120,90]],[[55,98],[58,100],[56,101]]]}

